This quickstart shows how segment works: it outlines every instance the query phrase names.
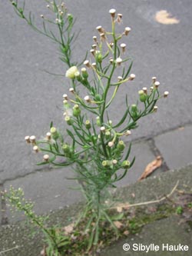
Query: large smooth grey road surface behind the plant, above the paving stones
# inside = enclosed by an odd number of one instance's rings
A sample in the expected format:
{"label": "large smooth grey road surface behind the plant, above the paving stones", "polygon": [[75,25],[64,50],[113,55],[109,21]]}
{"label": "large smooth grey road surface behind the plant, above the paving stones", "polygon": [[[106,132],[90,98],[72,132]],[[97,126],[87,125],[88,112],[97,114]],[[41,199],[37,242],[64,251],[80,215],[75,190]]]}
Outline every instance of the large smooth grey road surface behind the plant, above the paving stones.
{"label": "large smooth grey road surface behind the plant, above the paving stones", "polygon": [[[124,15],[123,24],[118,26],[120,32],[125,26],[132,28],[130,36],[124,38],[124,42],[128,45],[128,54],[134,58],[132,72],[137,79],[119,89],[110,118],[114,114],[116,120],[121,117],[126,93],[128,101],[135,103],[137,91],[150,86],[151,76],[157,75],[161,81],[161,90],[170,91],[171,97],[161,101],[157,114],[139,121],[140,127],[133,131],[133,138],[152,137],[192,121],[191,91],[190,86],[186,86],[191,81],[190,0],[184,1],[182,5],[178,0],[66,0],[65,3],[69,11],[78,18],[75,31],[81,29],[74,48],[75,62],[81,61],[85,52],[90,49],[92,36],[97,33],[96,26],[111,28],[108,14],[110,8],[116,8],[117,12]],[[36,15],[36,24],[41,25],[41,13],[48,12],[45,1],[28,0],[25,8],[26,12],[31,10]],[[161,9],[167,9],[167,12],[177,16],[180,23],[157,23],[154,15]],[[90,17],[94,18],[88,22]],[[17,175],[26,175],[36,168],[31,151],[26,148],[25,135],[35,134],[38,138],[45,135],[51,121],[63,128],[62,95],[68,91],[70,82],[63,77],[51,76],[41,71],[45,69],[65,75],[65,65],[58,60],[58,47],[48,38],[32,31],[18,18],[9,1],[3,1],[0,18],[0,179],[5,181]]]}

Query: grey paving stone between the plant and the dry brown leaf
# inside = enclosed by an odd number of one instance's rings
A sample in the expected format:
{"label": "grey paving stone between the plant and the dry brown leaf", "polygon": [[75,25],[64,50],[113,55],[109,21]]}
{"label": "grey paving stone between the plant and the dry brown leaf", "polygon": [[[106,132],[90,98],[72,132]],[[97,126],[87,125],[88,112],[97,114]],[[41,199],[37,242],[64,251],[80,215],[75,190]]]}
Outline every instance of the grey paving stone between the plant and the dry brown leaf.
{"label": "grey paving stone between the plant and the dry brown leaf", "polygon": [[[127,175],[121,180],[117,182],[117,186],[126,186],[130,185],[138,180],[138,178],[141,177],[141,174],[144,171],[144,168],[147,164],[149,164],[151,161],[154,160],[155,155],[151,151],[150,145],[147,143],[147,141],[137,141],[134,142],[131,148],[131,155],[130,155],[130,161],[132,158],[135,158],[134,165],[132,168],[128,171]],[[158,170],[159,172],[162,172],[161,168]],[[156,173],[156,171],[155,171]]]}

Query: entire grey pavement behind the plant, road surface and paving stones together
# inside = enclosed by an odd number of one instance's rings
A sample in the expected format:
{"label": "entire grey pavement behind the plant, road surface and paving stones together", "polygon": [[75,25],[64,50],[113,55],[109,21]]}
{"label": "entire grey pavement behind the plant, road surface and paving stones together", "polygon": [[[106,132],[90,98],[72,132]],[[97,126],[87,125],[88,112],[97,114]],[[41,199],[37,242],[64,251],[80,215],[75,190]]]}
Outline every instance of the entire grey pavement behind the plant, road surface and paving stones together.
{"label": "entire grey pavement behind the plant, road surface and paving stones together", "polygon": [[[36,16],[47,12],[46,2],[26,0],[26,9]],[[69,12],[78,18],[75,30],[81,31],[74,47],[73,59],[80,61],[92,45],[98,25],[110,27],[110,8],[123,14],[124,27],[132,28],[126,38],[128,54],[134,59],[131,85],[118,92],[111,115],[120,118],[122,101],[127,93],[135,102],[137,91],[151,85],[157,76],[161,91],[170,95],[158,104],[155,115],[144,118],[133,131],[134,168],[123,183],[134,183],[148,162],[162,155],[164,163],[157,172],[180,168],[191,163],[192,155],[192,2],[190,0],[74,0],[65,1]],[[161,24],[155,15],[166,10],[177,19],[176,24]],[[48,75],[44,70],[65,75],[66,67],[59,60],[58,48],[48,38],[38,35],[18,18],[7,0],[0,3],[0,188],[9,185],[25,188],[25,194],[37,202],[38,213],[62,208],[81,199],[77,191],[67,191],[76,185],[66,180],[69,169],[37,168],[37,156],[25,145],[25,135],[45,135],[51,121],[64,128],[62,95],[69,88],[61,76]],[[120,28],[119,28],[120,29]],[[51,189],[50,189],[51,188]],[[11,222],[2,201],[2,224]]]}

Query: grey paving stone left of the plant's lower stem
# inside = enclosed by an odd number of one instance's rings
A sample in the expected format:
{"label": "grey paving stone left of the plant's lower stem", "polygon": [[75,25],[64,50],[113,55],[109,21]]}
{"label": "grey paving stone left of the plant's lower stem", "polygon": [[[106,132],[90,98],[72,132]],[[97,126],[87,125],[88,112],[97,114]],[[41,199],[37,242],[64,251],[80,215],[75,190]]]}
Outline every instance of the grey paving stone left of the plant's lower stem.
{"label": "grey paving stone left of the plant's lower stem", "polygon": [[[67,169],[55,169],[54,171],[38,171],[35,174],[18,178],[14,181],[5,182],[5,189],[8,191],[10,185],[14,188],[22,188],[25,198],[35,202],[35,212],[45,214],[64,206],[82,201],[81,191],[70,188],[78,188],[79,185],[71,178],[71,171]],[[7,211],[9,223],[21,220],[22,214]]]}

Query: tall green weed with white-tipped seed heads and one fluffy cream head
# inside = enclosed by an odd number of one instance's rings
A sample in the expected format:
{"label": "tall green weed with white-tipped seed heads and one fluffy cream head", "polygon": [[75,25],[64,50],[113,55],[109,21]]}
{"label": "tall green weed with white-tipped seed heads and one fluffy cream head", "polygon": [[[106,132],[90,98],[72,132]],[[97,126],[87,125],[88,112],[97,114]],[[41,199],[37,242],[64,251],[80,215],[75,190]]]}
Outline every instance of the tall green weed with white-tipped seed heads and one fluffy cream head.
{"label": "tall green weed with white-tipped seed heads and one fluffy cream head", "polygon": [[108,110],[113,106],[118,89],[135,78],[131,74],[133,62],[130,56],[126,56],[124,43],[131,28],[122,28],[122,32],[117,33],[116,25],[121,24],[122,14],[111,9],[111,31],[97,26],[89,56],[86,55],[81,63],[72,62],[71,44],[76,38],[72,32],[73,15],[68,13],[62,2],[45,2],[54,18],[41,15],[41,28],[35,25],[31,12],[25,15],[25,4],[15,1],[12,5],[31,28],[58,44],[61,61],[66,64],[65,77],[71,81],[68,94],[63,95],[65,131],[59,131],[51,123],[44,139],[38,140],[32,135],[26,136],[25,141],[35,152],[44,154],[38,165],[73,168],[74,179],[79,181],[86,198],[86,207],[77,225],[87,218],[85,230],[90,234],[89,249],[98,243],[101,222],[108,222],[118,236],[118,228],[105,203],[110,194],[109,188],[115,187],[115,183],[124,178],[134,164],[134,158],[130,159],[131,143],[127,143],[127,136],[137,128],[139,119],[157,111],[157,101],[166,98],[168,91],[161,95],[160,83],[153,77],[150,88],[138,91],[134,105],[129,105],[125,96],[125,111],[119,120],[113,120]]}

